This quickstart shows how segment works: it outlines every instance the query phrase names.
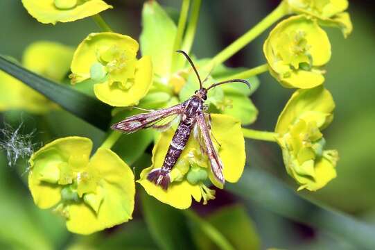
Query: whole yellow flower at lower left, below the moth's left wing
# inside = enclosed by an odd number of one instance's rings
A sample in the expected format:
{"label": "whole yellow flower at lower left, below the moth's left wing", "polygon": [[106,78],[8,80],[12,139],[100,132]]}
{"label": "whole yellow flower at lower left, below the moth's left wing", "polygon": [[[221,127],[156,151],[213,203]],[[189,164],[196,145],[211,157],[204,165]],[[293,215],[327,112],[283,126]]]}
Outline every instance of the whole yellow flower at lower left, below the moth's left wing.
{"label": "whole yellow flower at lower left, below the moth's left wing", "polygon": [[88,138],[60,138],[30,158],[28,186],[40,208],[67,219],[73,233],[89,234],[132,219],[134,175],[110,149],[89,158]]}

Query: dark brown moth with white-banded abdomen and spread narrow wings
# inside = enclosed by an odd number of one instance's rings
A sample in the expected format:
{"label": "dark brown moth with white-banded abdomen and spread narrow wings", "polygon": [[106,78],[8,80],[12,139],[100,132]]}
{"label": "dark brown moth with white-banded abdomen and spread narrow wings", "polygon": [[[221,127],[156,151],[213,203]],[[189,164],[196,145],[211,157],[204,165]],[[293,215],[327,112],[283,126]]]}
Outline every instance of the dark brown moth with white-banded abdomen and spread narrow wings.
{"label": "dark brown moth with white-banded abdomen and spread narrow wings", "polygon": [[[203,88],[200,75],[188,54],[181,50],[176,52],[182,53],[186,57],[186,60],[189,61],[191,67],[193,67],[200,84],[200,89],[196,90],[195,94],[183,103],[172,106],[171,108],[148,110],[148,113],[133,115],[121,122],[113,124],[111,128],[125,133],[133,133],[142,128],[150,127],[166,129],[171,126],[173,122],[171,117],[178,117],[180,118],[180,123],[173,135],[171,144],[169,144],[164,163],[162,167],[153,169],[148,173],[148,181],[162,186],[164,190],[168,189],[168,185],[171,183],[171,170],[177,163],[178,158],[180,158],[180,155],[189,140],[191,131],[194,131],[195,138],[199,139],[198,141],[200,142],[201,151],[207,154],[209,158],[213,176],[220,183],[224,184],[223,163],[221,162],[218,152],[211,140],[211,117],[209,116],[209,113],[207,113],[207,106],[204,104],[204,101],[207,100],[207,92],[218,85],[239,82],[245,83],[250,88],[250,83],[242,79],[233,79],[214,83],[210,85],[209,88]],[[206,80],[207,78],[204,81]]]}

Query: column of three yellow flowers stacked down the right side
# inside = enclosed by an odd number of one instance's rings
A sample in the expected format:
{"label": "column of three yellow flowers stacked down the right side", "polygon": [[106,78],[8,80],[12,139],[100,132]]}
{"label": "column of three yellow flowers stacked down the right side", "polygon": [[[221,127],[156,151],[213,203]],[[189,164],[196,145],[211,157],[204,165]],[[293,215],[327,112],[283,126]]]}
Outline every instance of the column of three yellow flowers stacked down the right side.
{"label": "column of three yellow flowers stacked down the right side", "polygon": [[279,116],[275,132],[284,164],[299,190],[318,190],[335,178],[338,152],[324,150],[321,133],[333,119],[334,102],[322,87],[331,44],[320,26],[352,31],[347,0],[284,0],[288,17],[273,28],[263,44],[269,71],[285,88],[298,88]]}

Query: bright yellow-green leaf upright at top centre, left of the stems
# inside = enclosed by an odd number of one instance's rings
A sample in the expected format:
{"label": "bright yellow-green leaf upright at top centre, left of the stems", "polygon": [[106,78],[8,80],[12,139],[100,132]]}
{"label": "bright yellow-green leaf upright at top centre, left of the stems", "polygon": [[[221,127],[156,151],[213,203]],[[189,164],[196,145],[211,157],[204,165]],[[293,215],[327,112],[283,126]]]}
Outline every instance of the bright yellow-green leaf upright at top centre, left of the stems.
{"label": "bright yellow-green leaf upright at top centre, left of the stems", "polygon": [[143,29],[140,37],[143,56],[151,56],[155,74],[171,72],[173,43],[177,27],[157,1],[146,1],[142,10]]}

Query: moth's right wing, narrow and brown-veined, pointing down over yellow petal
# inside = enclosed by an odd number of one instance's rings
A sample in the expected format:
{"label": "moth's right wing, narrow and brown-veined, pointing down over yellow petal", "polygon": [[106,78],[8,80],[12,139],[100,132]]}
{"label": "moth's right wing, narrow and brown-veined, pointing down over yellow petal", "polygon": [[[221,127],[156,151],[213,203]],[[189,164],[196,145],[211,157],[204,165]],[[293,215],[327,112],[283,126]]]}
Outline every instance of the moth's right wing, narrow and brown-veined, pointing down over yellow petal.
{"label": "moth's right wing, narrow and brown-veined, pointing down over yellow petal", "polygon": [[205,150],[207,156],[209,157],[209,162],[211,163],[211,171],[213,176],[215,176],[216,180],[220,181],[220,183],[225,183],[224,176],[223,176],[223,163],[218,156],[218,152],[216,152],[215,147],[213,146],[211,137],[210,137],[210,129],[207,125],[206,119],[204,117],[204,113],[200,113],[196,117],[197,124],[200,128],[200,133],[204,140],[204,144],[206,146]]}

